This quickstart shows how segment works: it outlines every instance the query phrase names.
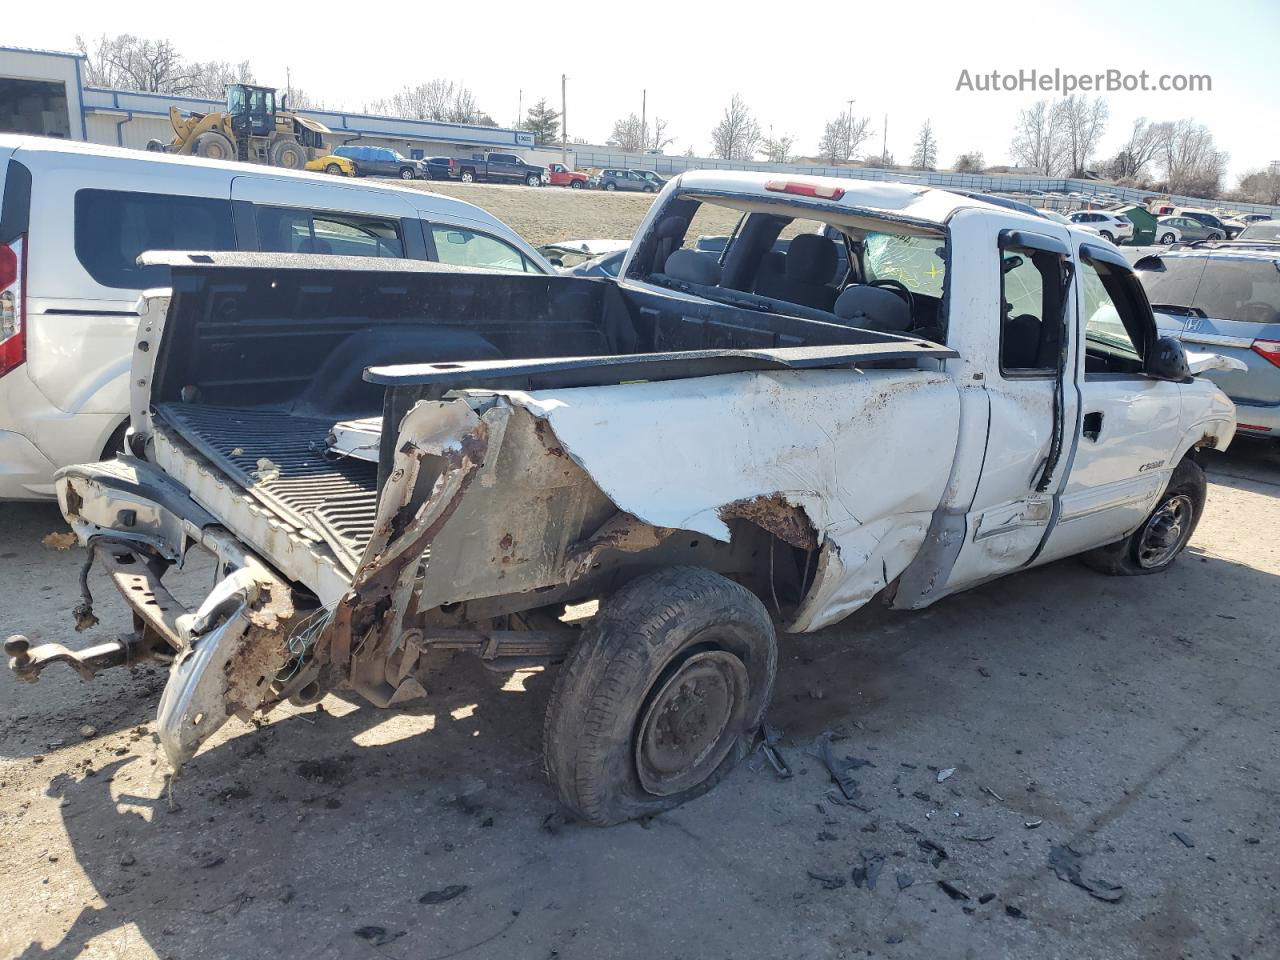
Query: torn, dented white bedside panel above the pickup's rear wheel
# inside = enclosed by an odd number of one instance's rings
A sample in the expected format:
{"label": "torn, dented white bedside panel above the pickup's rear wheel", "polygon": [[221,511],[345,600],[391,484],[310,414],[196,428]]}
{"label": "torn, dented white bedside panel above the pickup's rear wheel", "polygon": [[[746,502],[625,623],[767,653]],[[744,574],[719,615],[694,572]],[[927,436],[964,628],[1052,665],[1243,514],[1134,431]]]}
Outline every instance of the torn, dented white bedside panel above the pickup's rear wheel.
{"label": "torn, dented white bedside panel above the pickup's rear wheel", "polygon": [[955,385],[923,370],[499,393],[545,420],[618,509],[655,527],[727,541],[730,504],[781,498],[803,509],[820,554],[794,631],[841,620],[905,568],[946,486],[959,430]]}

